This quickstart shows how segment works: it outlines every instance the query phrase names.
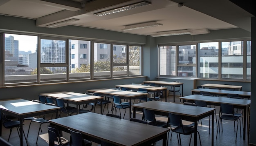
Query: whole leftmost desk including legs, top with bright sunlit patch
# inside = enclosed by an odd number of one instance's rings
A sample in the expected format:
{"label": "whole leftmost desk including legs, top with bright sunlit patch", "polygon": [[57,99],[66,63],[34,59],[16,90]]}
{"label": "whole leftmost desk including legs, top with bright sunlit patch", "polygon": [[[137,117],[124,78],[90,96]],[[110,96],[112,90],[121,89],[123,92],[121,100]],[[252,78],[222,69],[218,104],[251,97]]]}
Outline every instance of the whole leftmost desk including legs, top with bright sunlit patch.
{"label": "whole leftmost desk including legs, top with bright sunlit patch", "polygon": [[[26,117],[34,117],[37,115],[44,115],[48,113],[56,113],[58,117],[58,110],[60,108],[57,106],[50,106],[41,104],[38,102],[32,102],[29,100],[16,99],[16,100],[4,100],[0,101],[0,111],[17,117],[20,120],[20,146],[23,145],[23,119]],[[0,119],[2,123],[2,119]],[[0,136],[2,135],[2,126],[0,126]]]}

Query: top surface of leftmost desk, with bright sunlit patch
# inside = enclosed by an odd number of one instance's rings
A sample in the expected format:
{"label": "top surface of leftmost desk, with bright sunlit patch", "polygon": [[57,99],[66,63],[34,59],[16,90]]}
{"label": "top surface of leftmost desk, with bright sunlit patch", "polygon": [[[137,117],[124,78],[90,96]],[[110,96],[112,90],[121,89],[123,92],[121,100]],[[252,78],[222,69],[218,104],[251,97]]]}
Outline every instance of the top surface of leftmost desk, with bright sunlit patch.
{"label": "top surface of leftmost desk, with bright sunlit patch", "polygon": [[40,104],[38,102],[32,102],[23,99],[0,101],[0,108],[3,111],[8,111],[16,115],[27,115],[42,111],[52,111],[60,109],[57,106]]}

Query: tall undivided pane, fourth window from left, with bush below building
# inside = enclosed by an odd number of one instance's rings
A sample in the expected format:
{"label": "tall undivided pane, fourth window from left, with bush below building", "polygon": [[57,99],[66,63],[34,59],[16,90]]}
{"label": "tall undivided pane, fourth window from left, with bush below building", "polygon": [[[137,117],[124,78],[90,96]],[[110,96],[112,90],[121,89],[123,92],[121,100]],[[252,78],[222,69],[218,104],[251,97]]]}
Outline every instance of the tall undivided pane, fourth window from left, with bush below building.
{"label": "tall undivided pane, fourth window from left, with bush below building", "polygon": [[110,77],[110,44],[94,43],[94,78]]}

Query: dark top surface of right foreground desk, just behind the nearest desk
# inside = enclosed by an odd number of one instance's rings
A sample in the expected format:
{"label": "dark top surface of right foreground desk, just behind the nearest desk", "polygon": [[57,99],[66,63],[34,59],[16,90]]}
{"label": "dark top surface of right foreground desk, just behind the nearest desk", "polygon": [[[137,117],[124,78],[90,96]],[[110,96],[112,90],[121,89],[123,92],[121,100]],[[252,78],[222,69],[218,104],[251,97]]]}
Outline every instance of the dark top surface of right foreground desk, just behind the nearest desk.
{"label": "dark top surface of right foreground desk, just behind the nearest desk", "polygon": [[171,102],[159,102],[159,101],[143,102],[140,104],[133,104],[132,106],[136,108],[147,108],[154,111],[174,113],[174,114],[185,115],[190,117],[199,117],[200,115],[214,111],[214,108],[189,106],[189,105],[175,104]]}

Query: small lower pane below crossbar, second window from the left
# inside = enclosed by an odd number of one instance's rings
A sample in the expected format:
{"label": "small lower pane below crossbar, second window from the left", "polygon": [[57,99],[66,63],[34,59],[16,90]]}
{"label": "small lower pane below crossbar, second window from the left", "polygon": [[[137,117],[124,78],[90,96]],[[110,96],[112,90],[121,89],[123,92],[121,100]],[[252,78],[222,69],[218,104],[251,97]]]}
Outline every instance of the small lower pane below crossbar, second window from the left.
{"label": "small lower pane below crossbar, second window from the left", "polygon": [[67,80],[66,67],[41,67],[40,82]]}

